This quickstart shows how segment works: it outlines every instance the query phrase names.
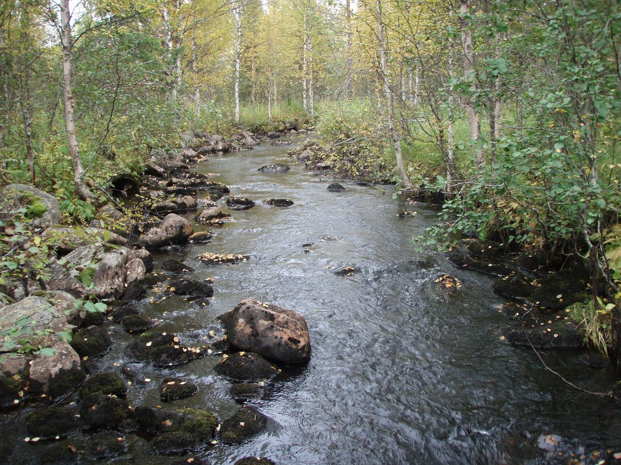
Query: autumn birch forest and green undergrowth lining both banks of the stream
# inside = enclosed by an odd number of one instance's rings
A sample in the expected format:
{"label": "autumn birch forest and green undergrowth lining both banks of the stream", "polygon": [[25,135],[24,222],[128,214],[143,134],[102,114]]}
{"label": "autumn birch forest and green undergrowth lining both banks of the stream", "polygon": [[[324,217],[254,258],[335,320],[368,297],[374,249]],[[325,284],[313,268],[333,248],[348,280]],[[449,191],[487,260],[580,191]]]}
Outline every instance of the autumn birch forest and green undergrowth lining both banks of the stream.
{"label": "autumn birch forest and green undergrowth lining both banks of the stream", "polygon": [[88,223],[183,130],[315,128],[340,174],[443,199],[423,243],[586,262],[620,363],[620,37],[615,0],[9,0],[2,183]]}

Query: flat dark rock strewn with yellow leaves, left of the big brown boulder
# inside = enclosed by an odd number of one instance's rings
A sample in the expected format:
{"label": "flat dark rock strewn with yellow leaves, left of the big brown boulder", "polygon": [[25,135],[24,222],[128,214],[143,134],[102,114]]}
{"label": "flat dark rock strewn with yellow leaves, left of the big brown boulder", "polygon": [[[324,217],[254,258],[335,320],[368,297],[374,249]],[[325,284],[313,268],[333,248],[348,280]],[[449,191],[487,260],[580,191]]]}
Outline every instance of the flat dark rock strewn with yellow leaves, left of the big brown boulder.
{"label": "flat dark rock strewn with yellow leaves, left of the big brown boulder", "polygon": [[155,330],[144,332],[127,346],[127,353],[138,361],[148,361],[156,368],[168,368],[207,355],[204,347],[187,347],[179,337]]}

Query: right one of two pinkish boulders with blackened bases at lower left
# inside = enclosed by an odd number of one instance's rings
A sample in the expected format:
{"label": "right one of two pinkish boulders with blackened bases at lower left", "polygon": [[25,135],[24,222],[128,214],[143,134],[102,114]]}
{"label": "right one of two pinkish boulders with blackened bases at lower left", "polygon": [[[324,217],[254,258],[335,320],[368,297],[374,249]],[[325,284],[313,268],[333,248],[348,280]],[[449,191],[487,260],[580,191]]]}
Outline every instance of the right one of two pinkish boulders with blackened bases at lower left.
{"label": "right one of two pinkish boulders with blackened bases at lower left", "polygon": [[32,392],[43,392],[50,397],[75,389],[84,379],[78,353],[66,342],[51,347],[54,355],[37,355],[30,364]]}

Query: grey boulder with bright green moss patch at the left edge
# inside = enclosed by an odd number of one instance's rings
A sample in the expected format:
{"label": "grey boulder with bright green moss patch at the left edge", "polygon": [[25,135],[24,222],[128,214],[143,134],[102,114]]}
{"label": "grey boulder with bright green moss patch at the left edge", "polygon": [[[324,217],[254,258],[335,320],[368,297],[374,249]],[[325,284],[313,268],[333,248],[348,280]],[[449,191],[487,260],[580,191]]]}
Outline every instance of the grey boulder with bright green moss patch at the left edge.
{"label": "grey boulder with bright green moss patch at the left edge", "polygon": [[2,216],[12,216],[25,208],[25,217],[33,228],[47,228],[60,223],[60,204],[53,195],[26,184],[9,184],[0,193]]}

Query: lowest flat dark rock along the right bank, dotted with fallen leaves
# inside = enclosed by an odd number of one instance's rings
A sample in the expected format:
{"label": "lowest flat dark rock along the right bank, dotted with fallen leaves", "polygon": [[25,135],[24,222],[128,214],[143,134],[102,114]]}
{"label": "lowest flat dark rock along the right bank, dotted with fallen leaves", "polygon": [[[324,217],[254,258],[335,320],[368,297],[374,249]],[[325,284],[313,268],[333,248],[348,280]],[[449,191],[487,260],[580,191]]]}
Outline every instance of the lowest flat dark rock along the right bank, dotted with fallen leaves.
{"label": "lowest flat dark rock along the right bank, dotted with fallen leaves", "polygon": [[523,329],[522,323],[517,323],[502,330],[501,334],[519,347],[530,347],[532,343],[537,349],[579,349],[585,344],[581,329],[575,323],[564,319],[524,326]]}

